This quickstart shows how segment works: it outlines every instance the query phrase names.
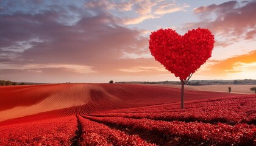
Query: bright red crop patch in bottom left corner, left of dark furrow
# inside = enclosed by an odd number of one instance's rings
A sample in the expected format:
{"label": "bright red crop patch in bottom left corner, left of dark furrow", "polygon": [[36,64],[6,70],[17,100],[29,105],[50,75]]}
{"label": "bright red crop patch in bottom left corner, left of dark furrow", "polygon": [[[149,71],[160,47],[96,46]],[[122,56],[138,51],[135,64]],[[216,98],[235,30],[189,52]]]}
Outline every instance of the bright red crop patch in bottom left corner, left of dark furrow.
{"label": "bright red crop patch in bottom left corner, left of dark furrow", "polygon": [[0,145],[71,145],[76,117],[60,117],[0,128]]}

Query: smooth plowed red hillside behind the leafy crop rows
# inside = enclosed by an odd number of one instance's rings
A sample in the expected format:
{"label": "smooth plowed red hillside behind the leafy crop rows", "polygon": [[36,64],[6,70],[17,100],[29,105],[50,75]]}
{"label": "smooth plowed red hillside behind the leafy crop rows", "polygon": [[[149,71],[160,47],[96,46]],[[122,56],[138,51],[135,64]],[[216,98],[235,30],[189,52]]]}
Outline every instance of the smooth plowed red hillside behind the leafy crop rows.
{"label": "smooth plowed red hillside behind the leafy crop rows", "polygon": [[[46,117],[59,117],[180,102],[178,88],[125,84],[0,86],[0,95],[0,121],[34,114],[41,119],[45,112]],[[185,90],[185,101],[235,95]]]}

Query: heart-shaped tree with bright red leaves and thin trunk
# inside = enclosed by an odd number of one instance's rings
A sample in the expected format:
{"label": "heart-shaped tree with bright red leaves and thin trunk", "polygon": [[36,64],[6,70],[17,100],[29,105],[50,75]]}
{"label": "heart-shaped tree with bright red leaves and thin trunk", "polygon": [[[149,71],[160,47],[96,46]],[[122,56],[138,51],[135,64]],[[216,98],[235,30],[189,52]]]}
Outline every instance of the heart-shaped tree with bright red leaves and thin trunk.
{"label": "heart-shaped tree with bright red leaves and thin trunk", "polygon": [[149,50],[165,69],[180,78],[181,108],[184,108],[184,85],[192,74],[212,56],[214,36],[208,29],[189,30],[181,36],[172,29],[159,29],[149,36]]}

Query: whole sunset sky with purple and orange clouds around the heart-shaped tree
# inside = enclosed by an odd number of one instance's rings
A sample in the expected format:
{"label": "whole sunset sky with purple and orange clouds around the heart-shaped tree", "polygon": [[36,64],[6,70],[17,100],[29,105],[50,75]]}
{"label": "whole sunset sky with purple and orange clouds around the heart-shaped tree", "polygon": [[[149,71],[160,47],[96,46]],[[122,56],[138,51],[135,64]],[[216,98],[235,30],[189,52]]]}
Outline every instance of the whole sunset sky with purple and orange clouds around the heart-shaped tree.
{"label": "whole sunset sky with purple and orange clouds around the heart-shaped tree", "polygon": [[197,27],[216,43],[191,80],[256,79],[256,1],[0,0],[0,80],[179,80],[154,60],[149,35]]}

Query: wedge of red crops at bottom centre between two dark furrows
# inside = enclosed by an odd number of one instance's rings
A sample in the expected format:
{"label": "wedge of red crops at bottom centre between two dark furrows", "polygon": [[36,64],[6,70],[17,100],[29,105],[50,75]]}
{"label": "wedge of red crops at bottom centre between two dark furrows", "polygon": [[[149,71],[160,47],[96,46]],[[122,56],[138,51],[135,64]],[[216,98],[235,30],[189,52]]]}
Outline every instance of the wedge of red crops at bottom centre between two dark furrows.
{"label": "wedge of red crops at bottom centre between two dark furrows", "polygon": [[81,145],[154,145],[143,141],[138,135],[113,130],[102,123],[78,117],[82,124]]}

